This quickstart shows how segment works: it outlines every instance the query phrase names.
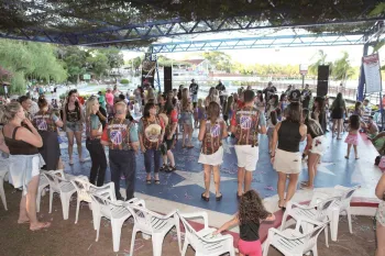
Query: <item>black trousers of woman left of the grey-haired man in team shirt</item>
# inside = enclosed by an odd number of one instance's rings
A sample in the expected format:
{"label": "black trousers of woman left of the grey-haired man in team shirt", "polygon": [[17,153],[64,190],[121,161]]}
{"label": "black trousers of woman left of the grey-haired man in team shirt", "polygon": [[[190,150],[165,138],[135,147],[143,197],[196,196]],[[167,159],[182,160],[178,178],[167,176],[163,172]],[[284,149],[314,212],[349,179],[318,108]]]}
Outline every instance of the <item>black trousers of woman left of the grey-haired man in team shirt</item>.
{"label": "black trousers of woman left of the grey-haired man in team shirt", "polygon": [[105,175],[107,169],[107,158],[103,146],[99,140],[87,140],[86,147],[91,157],[92,167],[89,174],[89,182],[101,187],[105,183]]}

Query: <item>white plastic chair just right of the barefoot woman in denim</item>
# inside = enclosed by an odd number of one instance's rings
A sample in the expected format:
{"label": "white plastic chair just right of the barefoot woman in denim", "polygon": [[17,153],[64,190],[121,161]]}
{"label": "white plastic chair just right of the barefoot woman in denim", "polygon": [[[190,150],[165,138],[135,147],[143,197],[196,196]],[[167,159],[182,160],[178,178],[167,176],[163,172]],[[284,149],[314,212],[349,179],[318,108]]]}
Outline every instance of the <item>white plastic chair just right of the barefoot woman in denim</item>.
{"label": "white plastic chair just right of the barefoot woman in denim", "polygon": [[45,171],[43,175],[50,183],[50,213],[52,213],[52,201],[56,192],[61,196],[63,219],[68,220],[70,197],[76,192],[74,185],[65,179],[63,170]]}

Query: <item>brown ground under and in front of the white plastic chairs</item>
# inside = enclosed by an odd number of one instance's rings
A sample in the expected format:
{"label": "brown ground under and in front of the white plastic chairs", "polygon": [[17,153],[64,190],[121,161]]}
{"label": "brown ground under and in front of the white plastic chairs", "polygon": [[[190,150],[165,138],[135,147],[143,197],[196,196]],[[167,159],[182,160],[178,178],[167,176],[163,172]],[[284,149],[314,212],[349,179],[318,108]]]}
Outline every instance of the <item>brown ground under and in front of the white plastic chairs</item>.
{"label": "brown ground under and in front of the white plastic chairs", "polygon": [[[62,215],[61,200],[54,197],[53,213],[48,214],[48,196],[42,198],[41,213],[38,218],[52,221],[52,227],[44,231],[31,232],[29,225],[16,223],[19,213],[19,201],[21,192],[6,183],[6,194],[9,211],[0,205],[0,255],[4,256],[130,256],[130,241],[132,231],[132,219],[128,220],[122,229],[121,246],[119,253],[112,251],[111,225],[102,220],[100,237],[95,242],[96,231],[92,227],[91,211],[87,204],[81,204],[79,221],[75,222],[76,199],[70,203],[69,220],[64,221]],[[330,240],[329,240],[330,241]],[[330,247],[324,245],[324,235],[321,233],[318,240],[320,256],[372,256],[375,249],[373,219],[353,216],[353,234],[349,233],[345,218],[341,218],[339,237],[337,242],[329,242]],[[151,241],[136,236],[134,255],[152,256]],[[163,244],[164,256],[179,255],[176,232],[167,234]],[[188,249],[187,256],[193,256],[194,251]],[[268,256],[279,256],[271,247]]]}

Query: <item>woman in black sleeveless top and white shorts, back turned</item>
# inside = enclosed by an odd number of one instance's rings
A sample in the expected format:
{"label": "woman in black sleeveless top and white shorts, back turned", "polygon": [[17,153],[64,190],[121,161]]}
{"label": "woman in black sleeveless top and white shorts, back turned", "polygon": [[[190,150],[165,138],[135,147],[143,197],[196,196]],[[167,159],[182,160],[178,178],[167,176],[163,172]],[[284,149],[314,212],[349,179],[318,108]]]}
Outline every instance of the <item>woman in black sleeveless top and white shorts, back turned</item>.
{"label": "woman in black sleeveless top and white shorts, back turned", "polygon": [[[282,209],[285,209],[286,201],[289,201],[296,191],[301,170],[299,143],[307,135],[307,127],[301,122],[302,108],[300,103],[292,102],[286,112],[286,120],[275,125],[271,155],[273,167],[278,171],[278,207]],[[287,176],[289,176],[289,183],[285,199]]]}

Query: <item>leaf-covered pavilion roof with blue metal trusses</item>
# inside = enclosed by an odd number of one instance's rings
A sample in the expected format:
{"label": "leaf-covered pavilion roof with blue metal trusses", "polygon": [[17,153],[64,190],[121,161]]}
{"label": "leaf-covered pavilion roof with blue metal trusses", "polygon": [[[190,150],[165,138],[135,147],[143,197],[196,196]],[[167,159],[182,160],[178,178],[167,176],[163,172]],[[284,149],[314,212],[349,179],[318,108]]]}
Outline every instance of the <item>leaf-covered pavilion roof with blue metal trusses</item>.
{"label": "leaf-covered pavilion roof with blue metal trusses", "polygon": [[[301,27],[369,33],[382,0],[3,0],[0,37],[66,45],[148,46],[162,37]],[[372,13],[371,13],[372,12]]]}

